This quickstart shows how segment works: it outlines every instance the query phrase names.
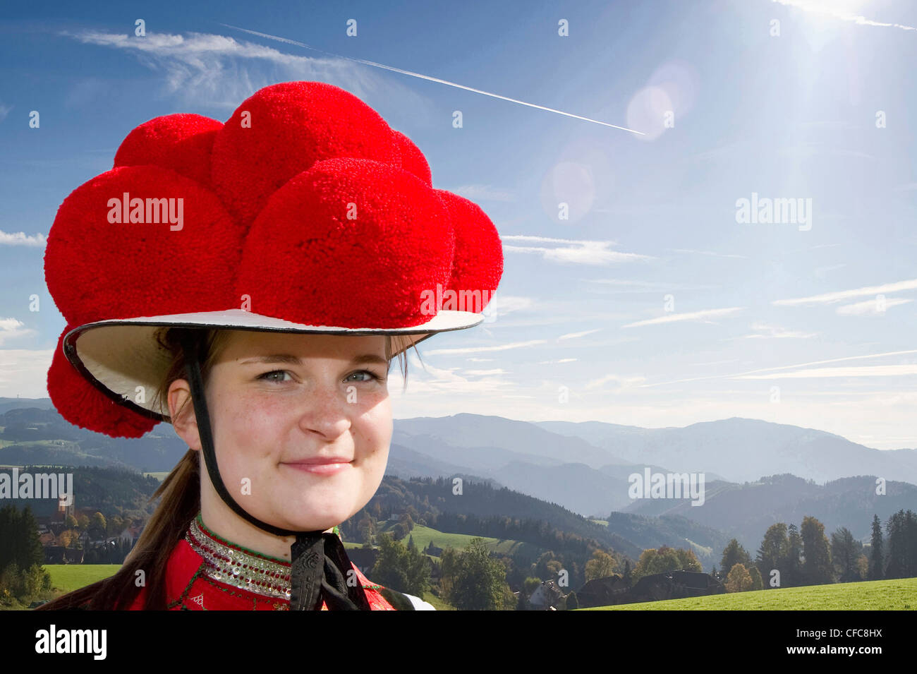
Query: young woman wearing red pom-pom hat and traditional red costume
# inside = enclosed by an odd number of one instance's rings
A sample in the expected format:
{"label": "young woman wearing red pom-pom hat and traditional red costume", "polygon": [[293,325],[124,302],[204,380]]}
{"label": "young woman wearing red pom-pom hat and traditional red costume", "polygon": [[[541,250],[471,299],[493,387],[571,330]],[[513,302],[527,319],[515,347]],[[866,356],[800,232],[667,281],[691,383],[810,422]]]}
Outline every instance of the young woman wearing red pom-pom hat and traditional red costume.
{"label": "young woman wearing red pom-pom hat and traditional red costume", "polygon": [[61,414],[168,421],[189,450],[122,569],[43,609],[432,608],[337,535],[385,471],[392,359],[406,380],[407,348],[478,325],[503,272],[489,218],[410,140],[325,83],[225,125],[158,117],[61,204],[45,270]]}

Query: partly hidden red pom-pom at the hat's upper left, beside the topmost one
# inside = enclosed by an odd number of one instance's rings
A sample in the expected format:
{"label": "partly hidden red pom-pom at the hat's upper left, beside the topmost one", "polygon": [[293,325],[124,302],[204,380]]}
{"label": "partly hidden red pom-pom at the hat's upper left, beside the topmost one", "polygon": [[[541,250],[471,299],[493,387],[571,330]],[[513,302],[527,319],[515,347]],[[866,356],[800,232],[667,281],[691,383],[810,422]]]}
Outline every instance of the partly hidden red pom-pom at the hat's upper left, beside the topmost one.
{"label": "partly hidden red pom-pom at the hat's upper left, beside the topmost one", "polygon": [[141,124],[121,143],[115,168],[152,164],[210,185],[210,152],[223,124],[201,115],[165,115]]}

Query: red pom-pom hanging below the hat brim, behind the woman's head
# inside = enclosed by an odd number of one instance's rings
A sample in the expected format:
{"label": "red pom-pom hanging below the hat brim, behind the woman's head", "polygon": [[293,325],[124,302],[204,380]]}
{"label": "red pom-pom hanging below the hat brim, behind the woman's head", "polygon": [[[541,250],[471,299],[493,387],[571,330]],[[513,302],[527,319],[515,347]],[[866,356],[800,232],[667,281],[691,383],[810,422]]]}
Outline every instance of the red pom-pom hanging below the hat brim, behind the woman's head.
{"label": "red pom-pom hanging below the hat brim, behind the woman's head", "polygon": [[58,337],[58,346],[48,370],[51,403],[72,425],[112,437],[140,437],[157,424],[142,414],[127,409],[96,389],[74,368],[63,354],[63,337],[73,329],[67,326]]}

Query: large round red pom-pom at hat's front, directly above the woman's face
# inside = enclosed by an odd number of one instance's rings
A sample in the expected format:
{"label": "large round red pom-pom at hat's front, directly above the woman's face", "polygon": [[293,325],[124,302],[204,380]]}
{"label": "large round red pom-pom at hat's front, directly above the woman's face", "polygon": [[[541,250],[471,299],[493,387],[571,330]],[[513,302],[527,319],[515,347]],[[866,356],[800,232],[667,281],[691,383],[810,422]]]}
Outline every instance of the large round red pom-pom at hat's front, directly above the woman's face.
{"label": "large round red pom-pom at hat's front, directly above the woman's face", "polygon": [[306,325],[416,326],[433,317],[423,292],[445,287],[454,247],[442,202],[413,173],[319,161],[252,225],[236,292],[257,314]]}

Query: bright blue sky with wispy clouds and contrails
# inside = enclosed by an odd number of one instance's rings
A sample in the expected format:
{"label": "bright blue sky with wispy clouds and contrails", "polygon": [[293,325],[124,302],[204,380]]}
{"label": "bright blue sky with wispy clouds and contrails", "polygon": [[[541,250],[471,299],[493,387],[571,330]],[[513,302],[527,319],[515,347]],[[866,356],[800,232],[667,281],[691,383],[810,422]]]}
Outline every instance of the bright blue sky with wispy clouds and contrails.
{"label": "bright blue sky with wispy clouds and contrails", "polygon": [[[420,347],[407,391],[391,380],[396,418],[745,416],[917,447],[917,4],[396,5],[6,4],[0,395],[47,395],[64,322],[43,237],[127,132],[319,80],[412,138],[503,239],[488,321]],[[811,204],[808,223],[738,222],[753,193]]]}

